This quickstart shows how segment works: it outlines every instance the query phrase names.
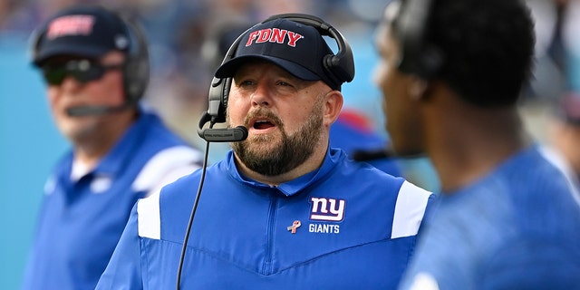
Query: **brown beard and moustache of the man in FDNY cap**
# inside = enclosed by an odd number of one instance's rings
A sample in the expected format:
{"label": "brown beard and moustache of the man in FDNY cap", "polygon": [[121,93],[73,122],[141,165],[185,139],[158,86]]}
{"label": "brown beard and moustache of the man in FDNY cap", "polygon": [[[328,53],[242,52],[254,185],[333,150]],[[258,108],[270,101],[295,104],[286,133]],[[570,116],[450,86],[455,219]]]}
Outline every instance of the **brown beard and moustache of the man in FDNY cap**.
{"label": "brown beard and moustache of the man in FDNY cap", "polygon": [[[232,143],[237,158],[248,169],[265,176],[278,176],[303,164],[312,156],[321,140],[323,104],[324,98],[319,97],[308,119],[291,136],[287,134],[284,123],[276,115],[262,109],[256,111],[252,115],[266,116],[275,122],[282,138],[276,142],[275,136],[271,135],[251,136],[247,140]],[[247,116],[246,124],[252,115]]]}

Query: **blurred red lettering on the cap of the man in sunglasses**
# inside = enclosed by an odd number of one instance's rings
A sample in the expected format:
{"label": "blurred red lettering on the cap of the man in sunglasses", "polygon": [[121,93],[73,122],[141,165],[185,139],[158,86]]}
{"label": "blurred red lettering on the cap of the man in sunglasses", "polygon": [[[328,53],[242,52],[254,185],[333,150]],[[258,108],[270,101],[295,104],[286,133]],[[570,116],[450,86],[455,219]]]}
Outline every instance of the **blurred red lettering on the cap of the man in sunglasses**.
{"label": "blurred red lettering on the cap of the man in sunglasses", "polygon": [[92,15],[68,15],[58,17],[48,26],[46,37],[53,39],[66,35],[88,35],[92,33]]}

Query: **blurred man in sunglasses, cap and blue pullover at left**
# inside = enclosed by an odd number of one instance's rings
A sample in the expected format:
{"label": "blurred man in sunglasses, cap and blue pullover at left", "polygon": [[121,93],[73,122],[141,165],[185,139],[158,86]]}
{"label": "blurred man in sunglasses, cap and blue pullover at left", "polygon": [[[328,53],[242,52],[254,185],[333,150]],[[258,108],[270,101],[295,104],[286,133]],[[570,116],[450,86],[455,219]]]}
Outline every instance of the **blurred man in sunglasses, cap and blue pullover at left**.
{"label": "blurred man in sunglasses, cap and blue pullover at left", "polygon": [[54,122],[72,148],[53,169],[23,289],[94,289],[133,204],[201,165],[141,103],[149,54],[140,26],[96,5],[73,5],[34,33]]}

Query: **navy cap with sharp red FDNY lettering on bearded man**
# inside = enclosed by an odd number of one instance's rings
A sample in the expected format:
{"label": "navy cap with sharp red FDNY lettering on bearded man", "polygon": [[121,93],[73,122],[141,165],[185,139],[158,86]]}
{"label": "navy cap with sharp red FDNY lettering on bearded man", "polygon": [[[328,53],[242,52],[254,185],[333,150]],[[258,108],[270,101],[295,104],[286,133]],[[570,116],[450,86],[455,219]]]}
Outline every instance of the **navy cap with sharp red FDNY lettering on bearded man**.
{"label": "navy cap with sharp red FDNY lettering on bearded man", "polygon": [[333,51],[315,27],[278,18],[253,26],[243,34],[233,58],[216,71],[217,78],[233,77],[248,60],[262,59],[277,64],[304,81],[322,80],[333,90],[337,83],[324,70],[324,55]]}

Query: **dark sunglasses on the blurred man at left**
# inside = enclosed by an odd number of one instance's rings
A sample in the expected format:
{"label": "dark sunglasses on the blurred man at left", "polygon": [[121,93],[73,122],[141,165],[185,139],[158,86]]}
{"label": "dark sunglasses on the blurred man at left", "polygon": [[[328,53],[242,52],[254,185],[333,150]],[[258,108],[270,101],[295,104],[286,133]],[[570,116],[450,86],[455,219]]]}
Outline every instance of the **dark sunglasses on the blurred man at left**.
{"label": "dark sunglasses on the blurred man at left", "polygon": [[89,60],[72,60],[65,63],[47,63],[43,65],[44,81],[51,85],[60,85],[67,76],[77,82],[85,83],[99,80],[111,70],[119,70],[123,64],[103,65]]}

